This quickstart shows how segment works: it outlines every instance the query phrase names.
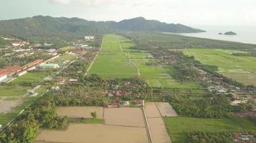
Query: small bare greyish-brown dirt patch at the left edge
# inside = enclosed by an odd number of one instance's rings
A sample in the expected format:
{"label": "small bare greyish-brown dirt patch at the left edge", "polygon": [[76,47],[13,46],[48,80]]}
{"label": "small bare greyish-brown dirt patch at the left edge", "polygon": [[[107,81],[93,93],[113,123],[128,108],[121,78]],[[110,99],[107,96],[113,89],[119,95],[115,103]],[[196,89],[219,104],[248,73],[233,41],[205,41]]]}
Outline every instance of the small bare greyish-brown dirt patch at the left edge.
{"label": "small bare greyish-brown dirt patch at the left edge", "polygon": [[12,112],[12,109],[22,104],[22,101],[8,101],[4,100],[0,102],[0,114],[6,114]]}

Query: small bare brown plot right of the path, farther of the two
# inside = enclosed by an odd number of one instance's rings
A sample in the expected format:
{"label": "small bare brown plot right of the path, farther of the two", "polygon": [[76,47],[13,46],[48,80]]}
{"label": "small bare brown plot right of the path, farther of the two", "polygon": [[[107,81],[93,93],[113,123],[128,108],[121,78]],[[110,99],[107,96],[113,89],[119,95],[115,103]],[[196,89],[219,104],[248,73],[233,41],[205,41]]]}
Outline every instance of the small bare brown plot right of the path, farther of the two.
{"label": "small bare brown plot right of the path, farther of the two", "polygon": [[176,117],[178,116],[173,107],[168,102],[155,102],[157,108],[160,110],[162,117]]}

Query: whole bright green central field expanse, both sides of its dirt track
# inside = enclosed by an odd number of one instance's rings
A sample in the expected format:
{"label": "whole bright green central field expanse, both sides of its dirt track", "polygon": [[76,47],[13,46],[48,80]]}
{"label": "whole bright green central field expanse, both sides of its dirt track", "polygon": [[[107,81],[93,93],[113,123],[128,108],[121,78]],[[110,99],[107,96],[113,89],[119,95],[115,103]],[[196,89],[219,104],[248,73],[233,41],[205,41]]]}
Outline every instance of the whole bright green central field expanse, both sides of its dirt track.
{"label": "whole bright green central field expanse, both sides of its dirt track", "polygon": [[99,74],[105,78],[131,77],[136,76],[139,69],[140,76],[147,79],[150,87],[201,89],[201,85],[196,82],[181,83],[173,79],[170,72],[174,72],[174,69],[170,66],[147,66],[147,62],[157,59],[148,59],[150,54],[147,51],[137,51],[131,46],[134,46],[134,42],[124,36],[105,35],[101,53],[89,74]]}

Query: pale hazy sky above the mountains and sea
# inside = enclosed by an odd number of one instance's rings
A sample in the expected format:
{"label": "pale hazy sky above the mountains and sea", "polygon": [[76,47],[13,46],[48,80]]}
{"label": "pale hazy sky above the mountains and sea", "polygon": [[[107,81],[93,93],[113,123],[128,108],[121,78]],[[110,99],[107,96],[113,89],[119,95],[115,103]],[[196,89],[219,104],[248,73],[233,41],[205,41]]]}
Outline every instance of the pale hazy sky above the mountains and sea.
{"label": "pale hazy sky above the mountains and sea", "polygon": [[119,21],[137,16],[187,25],[256,26],[256,0],[0,0],[0,19],[35,15]]}

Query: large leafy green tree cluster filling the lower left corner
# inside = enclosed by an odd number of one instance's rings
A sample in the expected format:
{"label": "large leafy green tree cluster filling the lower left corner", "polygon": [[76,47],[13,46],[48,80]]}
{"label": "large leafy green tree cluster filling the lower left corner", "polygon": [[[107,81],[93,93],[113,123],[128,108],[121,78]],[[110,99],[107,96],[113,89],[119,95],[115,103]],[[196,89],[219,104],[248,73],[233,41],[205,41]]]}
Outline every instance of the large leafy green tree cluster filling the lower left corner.
{"label": "large leafy green tree cluster filling the lower left corner", "polygon": [[40,127],[63,129],[68,123],[66,117],[60,118],[55,111],[55,104],[48,99],[39,99],[4,129],[0,142],[34,142]]}

